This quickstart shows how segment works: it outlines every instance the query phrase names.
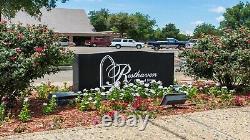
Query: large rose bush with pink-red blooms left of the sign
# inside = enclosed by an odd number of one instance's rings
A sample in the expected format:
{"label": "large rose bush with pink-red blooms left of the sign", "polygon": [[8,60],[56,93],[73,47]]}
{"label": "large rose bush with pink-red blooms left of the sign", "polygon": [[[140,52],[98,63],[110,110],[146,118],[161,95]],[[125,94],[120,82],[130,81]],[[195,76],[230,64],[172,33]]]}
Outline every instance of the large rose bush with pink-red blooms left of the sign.
{"label": "large rose bush with pink-red blooms left of the sign", "polygon": [[56,43],[60,37],[46,26],[0,23],[0,101],[11,107],[30,83],[57,72],[72,52]]}

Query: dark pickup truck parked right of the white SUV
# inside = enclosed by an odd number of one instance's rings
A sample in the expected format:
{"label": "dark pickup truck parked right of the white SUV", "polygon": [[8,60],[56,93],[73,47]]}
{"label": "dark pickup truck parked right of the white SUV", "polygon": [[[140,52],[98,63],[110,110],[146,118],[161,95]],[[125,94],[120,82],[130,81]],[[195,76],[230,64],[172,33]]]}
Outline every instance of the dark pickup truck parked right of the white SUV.
{"label": "dark pickup truck parked right of the white SUV", "polygon": [[159,50],[162,48],[176,48],[183,49],[186,46],[186,41],[178,41],[175,38],[167,38],[164,41],[151,41],[148,42],[148,46],[151,46],[154,50]]}

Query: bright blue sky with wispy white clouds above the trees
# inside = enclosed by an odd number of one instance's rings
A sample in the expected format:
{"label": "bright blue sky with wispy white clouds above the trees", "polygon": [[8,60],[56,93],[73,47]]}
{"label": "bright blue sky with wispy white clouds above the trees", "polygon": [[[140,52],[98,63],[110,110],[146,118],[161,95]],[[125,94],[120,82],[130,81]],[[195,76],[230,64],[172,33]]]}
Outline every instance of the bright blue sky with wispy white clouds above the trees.
{"label": "bright blue sky with wispy white clouds above the trees", "polygon": [[[246,2],[247,0],[241,0]],[[86,12],[109,9],[110,12],[141,12],[157,21],[159,27],[176,24],[183,33],[191,33],[196,25],[211,23],[215,26],[223,20],[228,7],[240,0],[69,0],[58,7],[84,9]]]}

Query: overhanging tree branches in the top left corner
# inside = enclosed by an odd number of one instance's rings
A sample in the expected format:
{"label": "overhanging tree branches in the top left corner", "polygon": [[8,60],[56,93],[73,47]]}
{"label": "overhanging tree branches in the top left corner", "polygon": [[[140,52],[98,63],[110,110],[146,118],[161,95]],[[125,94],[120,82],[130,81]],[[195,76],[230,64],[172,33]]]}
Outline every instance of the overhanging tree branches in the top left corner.
{"label": "overhanging tree branches in the top left corner", "polygon": [[[0,0],[0,21],[2,15],[13,18],[20,10],[26,11],[31,16],[41,15],[40,9],[46,7],[48,10],[56,7],[59,0]],[[67,0],[60,0],[66,2]]]}

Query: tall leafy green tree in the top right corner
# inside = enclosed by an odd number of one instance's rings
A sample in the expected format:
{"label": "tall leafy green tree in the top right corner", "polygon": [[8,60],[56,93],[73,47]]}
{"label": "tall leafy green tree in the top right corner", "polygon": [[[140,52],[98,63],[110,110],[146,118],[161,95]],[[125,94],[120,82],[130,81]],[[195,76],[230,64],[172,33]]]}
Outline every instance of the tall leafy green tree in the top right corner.
{"label": "tall leafy green tree in the top right corner", "polygon": [[221,27],[236,29],[240,26],[250,28],[250,3],[240,2],[232,8],[228,8],[224,13],[224,20],[220,23]]}

